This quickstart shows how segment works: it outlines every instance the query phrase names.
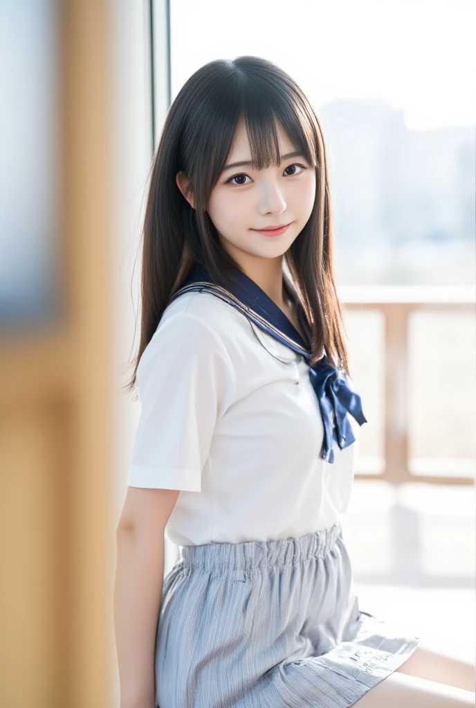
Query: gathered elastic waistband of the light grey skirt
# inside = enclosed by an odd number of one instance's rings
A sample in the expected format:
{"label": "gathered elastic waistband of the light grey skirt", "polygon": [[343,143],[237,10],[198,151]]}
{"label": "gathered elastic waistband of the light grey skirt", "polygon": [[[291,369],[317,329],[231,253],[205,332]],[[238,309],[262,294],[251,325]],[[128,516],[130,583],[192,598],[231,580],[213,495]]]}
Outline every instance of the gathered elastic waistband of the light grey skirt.
{"label": "gathered elastic waistband of the light grey skirt", "polygon": [[334,548],[342,536],[339,523],[297,538],[241,543],[207,543],[179,546],[179,562],[184,568],[208,570],[249,570],[276,566],[322,556]]}

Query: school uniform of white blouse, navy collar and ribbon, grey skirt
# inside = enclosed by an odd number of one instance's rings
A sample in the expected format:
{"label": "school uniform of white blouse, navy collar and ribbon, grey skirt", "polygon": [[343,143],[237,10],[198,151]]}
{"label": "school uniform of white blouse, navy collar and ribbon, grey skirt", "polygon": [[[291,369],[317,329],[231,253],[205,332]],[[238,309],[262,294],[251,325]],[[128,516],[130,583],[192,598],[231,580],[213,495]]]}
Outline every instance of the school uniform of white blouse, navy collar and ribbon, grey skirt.
{"label": "school uniform of white blouse, navy collar and ribbon, grey skirt", "polygon": [[128,484],[180,490],[157,708],[348,708],[419,643],[359,608],[341,520],[366,419],[346,373],[309,357],[254,281],[198,268],[142,353]]}

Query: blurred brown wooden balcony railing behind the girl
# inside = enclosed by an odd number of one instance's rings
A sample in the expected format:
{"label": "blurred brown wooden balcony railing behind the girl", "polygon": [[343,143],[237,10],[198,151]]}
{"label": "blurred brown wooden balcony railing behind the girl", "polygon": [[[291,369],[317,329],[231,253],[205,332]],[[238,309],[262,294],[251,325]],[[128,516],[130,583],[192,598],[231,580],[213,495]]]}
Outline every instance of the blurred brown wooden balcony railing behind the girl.
{"label": "blurred brown wooden balcony railing behind the girl", "polygon": [[[385,320],[385,438],[382,472],[356,472],[356,479],[379,479],[391,484],[474,484],[474,476],[416,474],[409,465],[409,319],[416,312],[474,312],[472,288],[343,287],[344,312],[378,311]],[[462,374],[464,375],[464,374]],[[438,382],[436,382],[438,383]],[[476,435],[472,430],[472,435]]]}

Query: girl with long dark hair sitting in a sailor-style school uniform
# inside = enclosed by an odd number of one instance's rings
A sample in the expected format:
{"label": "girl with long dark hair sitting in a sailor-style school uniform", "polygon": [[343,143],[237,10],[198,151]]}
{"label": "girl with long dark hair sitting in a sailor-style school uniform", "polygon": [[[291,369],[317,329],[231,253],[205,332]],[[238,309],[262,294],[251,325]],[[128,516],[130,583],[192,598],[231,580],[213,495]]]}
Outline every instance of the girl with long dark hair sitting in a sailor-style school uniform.
{"label": "girl with long dark hair sitting in a sailor-style school uniform", "polygon": [[[121,708],[474,705],[471,667],[358,605],[341,518],[366,421],[326,153],[275,64],[210,62],[171,105],[141,324],[118,525]],[[165,578],[164,532],[179,546]]]}

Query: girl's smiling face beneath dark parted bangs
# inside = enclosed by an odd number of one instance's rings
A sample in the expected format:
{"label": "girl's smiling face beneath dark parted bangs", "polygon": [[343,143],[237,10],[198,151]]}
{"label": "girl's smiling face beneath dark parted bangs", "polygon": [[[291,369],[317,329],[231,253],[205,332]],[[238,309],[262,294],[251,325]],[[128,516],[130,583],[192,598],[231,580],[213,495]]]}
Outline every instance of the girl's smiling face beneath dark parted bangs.
{"label": "girl's smiling face beneath dark parted bangs", "polygon": [[[225,170],[208,203],[208,214],[223,247],[245,271],[249,266],[263,265],[262,259],[280,262],[314,205],[314,166],[297,154],[299,151],[279,123],[276,130],[283,158],[278,167],[257,170],[251,164],[229,166],[251,162],[244,120],[239,122]],[[181,185],[179,176],[177,183]],[[281,234],[266,236],[258,230],[282,224],[290,225]]]}

